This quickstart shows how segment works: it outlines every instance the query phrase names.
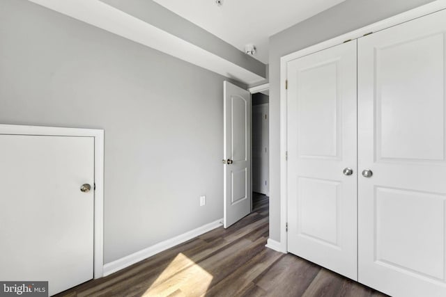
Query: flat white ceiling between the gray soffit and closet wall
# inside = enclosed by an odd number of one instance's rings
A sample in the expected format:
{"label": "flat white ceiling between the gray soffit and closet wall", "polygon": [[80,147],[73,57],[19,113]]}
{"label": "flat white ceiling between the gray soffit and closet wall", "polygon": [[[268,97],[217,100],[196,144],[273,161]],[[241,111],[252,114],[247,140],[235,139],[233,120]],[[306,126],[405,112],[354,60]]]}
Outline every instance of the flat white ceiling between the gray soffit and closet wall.
{"label": "flat white ceiling between the gray soffit and closet wall", "polygon": [[268,38],[345,0],[153,0],[244,51],[256,45],[254,58],[268,64]]}

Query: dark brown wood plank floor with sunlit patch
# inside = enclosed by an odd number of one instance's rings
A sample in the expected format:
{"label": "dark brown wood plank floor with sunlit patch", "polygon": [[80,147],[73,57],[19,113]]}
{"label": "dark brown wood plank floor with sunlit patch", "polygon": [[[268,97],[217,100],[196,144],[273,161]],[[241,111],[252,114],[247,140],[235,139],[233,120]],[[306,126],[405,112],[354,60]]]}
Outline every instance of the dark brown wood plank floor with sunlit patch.
{"label": "dark brown wood plank floor with sunlit patch", "polygon": [[266,248],[268,198],[254,211],[99,280],[58,296],[385,296],[305,259]]}

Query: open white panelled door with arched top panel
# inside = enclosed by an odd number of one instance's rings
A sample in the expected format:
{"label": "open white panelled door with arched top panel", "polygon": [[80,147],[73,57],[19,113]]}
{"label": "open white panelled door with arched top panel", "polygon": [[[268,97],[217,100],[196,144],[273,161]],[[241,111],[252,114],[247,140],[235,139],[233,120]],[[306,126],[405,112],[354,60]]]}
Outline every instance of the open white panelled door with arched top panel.
{"label": "open white panelled door with arched top panel", "polygon": [[224,227],[251,212],[251,94],[224,81]]}

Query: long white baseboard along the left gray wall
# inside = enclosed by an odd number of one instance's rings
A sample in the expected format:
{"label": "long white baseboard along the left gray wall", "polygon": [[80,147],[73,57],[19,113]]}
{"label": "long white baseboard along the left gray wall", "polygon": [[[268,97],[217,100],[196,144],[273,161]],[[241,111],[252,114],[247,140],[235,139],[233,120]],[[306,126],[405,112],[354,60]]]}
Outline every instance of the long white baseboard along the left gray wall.
{"label": "long white baseboard along the left gray wall", "polygon": [[209,232],[210,230],[214,230],[215,228],[223,225],[222,221],[223,219],[220,218],[220,220],[215,220],[215,222],[208,223],[206,225],[198,227],[197,229],[175,236],[174,238],[167,239],[153,246],[149,246],[148,248],[144,248],[144,250],[140,250],[139,252],[134,252],[132,255],[128,255],[122,257],[121,259],[117,259],[113,262],[107,263],[104,265],[103,276],[107,276],[116,271],[120,271],[125,267],[128,267],[132,264],[147,259],[148,257],[152,257],[153,255],[156,255],[157,253],[162,252],[163,250],[167,250],[174,246],[178,246],[178,244],[180,243],[193,239],[194,237],[200,236],[201,234]]}

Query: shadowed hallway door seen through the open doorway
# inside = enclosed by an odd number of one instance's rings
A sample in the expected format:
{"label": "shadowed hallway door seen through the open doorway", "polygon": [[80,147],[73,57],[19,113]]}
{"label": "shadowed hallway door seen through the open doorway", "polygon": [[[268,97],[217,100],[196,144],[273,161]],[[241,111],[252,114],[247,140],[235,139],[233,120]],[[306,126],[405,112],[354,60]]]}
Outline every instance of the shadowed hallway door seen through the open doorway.
{"label": "shadowed hallway door seen through the open doorway", "polygon": [[252,191],[268,195],[268,103],[252,106]]}

